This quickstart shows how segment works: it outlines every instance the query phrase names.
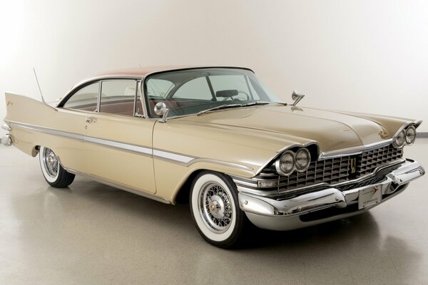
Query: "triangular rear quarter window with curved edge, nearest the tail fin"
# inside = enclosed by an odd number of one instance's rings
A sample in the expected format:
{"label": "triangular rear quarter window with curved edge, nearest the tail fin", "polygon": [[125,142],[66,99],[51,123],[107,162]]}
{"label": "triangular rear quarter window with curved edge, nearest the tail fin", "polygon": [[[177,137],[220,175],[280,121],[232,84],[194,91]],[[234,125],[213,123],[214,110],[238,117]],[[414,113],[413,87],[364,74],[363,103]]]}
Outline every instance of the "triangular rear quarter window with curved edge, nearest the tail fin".
{"label": "triangular rear quarter window with curved edge, nearest the tail fin", "polygon": [[93,83],[74,93],[63,105],[63,108],[95,111],[98,102],[98,89],[100,83]]}

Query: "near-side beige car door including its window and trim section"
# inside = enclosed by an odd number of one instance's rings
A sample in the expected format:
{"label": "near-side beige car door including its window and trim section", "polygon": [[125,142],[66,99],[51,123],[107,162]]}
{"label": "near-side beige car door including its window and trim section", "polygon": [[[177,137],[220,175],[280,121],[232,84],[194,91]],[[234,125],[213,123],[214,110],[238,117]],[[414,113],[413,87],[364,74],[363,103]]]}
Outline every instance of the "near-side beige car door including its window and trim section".
{"label": "near-side beige car door including its window and trim section", "polygon": [[156,192],[152,157],[156,121],[135,116],[141,110],[138,81],[100,83],[98,110],[85,118],[87,173],[116,185]]}

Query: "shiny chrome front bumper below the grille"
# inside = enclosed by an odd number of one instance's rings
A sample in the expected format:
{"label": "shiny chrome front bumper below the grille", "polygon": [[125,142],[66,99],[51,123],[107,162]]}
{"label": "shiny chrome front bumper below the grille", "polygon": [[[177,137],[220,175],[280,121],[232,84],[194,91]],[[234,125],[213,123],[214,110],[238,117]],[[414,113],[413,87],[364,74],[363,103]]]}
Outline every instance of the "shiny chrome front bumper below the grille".
{"label": "shiny chrome front bumper below the grille", "polygon": [[[372,209],[404,191],[410,181],[424,174],[422,165],[413,160],[406,160],[397,169],[389,172],[382,182],[373,185],[345,191],[331,187],[281,200],[248,192],[239,192],[238,198],[240,209],[257,227],[273,230],[298,229]],[[360,193],[371,189],[374,189],[374,192],[381,191],[381,199],[365,206],[361,199],[359,201]]]}

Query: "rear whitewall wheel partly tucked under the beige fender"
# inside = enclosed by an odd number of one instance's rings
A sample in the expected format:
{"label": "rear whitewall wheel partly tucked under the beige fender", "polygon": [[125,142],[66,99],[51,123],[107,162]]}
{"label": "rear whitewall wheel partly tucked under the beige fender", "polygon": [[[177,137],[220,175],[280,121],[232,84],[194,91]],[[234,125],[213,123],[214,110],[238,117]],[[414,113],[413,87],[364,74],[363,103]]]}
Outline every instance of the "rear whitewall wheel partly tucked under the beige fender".
{"label": "rear whitewall wheel partly tucked under the beige fender", "polygon": [[40,147],[39,161],[41,173],[52,187],[63,188],[71,185],[74,175],[63,169],[53,150]]}

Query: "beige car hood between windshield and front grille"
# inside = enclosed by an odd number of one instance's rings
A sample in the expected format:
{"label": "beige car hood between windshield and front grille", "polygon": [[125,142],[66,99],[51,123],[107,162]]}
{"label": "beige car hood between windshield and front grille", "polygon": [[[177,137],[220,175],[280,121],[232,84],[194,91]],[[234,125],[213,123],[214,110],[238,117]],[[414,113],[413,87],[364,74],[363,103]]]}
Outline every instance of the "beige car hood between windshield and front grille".
{"label": "beige car hood between windshield and front grille", "polygon": [[290,105],[217,110],[181,119],[198,124],[263,130],[270,135],[289,135],[295,137],[297,143],[315,140],[322,152],[370,145],[393,135],[379,123],[355,115]]}

